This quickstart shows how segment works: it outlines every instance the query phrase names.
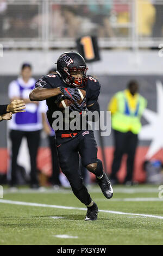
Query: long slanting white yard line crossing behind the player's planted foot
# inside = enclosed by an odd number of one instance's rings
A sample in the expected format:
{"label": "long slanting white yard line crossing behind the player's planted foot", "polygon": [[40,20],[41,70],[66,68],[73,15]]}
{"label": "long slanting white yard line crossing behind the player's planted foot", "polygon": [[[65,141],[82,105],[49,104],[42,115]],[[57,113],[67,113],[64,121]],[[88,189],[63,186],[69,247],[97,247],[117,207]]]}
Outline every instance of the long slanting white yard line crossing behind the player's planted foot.
{"label": "long slanting white yard line crossing behind the player's planted foot", "polygon": [[[20,201],[12,201],[12,200],[4,200],[4,199],[0,199],[0,203],[15,204],[15,205],[26,205],[26,206],[39,206],[39,207],[58,208],[58,209],[67,209],[67,210],[80,210],[80,211],[84,210],[84,211],[86,211],[86,208],[77,208],[77,207],[71,207],[71,206],[51,205],[51,204],[37,204],[37,203],[28,203],[28,202],[20,202]],[[158,218],[158,219],[163,220],[163,216],[157,216],[157,215],[132,214],[132,213],[129,213],[129,212],[109,211],[109,210],[99,210],[99,212],[106,212],[108,214],[145,216],[145,217],[149,217],[149,218]]]}

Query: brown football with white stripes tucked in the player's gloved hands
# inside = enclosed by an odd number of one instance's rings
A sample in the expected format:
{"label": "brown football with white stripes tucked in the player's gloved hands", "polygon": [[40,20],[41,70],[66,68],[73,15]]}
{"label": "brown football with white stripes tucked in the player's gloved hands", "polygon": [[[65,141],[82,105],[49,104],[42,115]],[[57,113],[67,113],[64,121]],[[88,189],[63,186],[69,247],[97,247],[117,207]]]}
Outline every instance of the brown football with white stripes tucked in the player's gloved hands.
{"label": "brown football with white stripes tucked in the player's gloved hands", "polygon": [[[78,89],[78,92],[80,94],[80,100],[78,100],[77,102],[79,104],[81,104],[85,98],[86,92],[85,92],[85,90],[82,90],[82,89]],[[66,99],[65,96],[62,95],[60,97],[60,100],[57,102],[57,106],[62,109],[62,108],[69,107],[72,103],[74,103],[74,102]]]}

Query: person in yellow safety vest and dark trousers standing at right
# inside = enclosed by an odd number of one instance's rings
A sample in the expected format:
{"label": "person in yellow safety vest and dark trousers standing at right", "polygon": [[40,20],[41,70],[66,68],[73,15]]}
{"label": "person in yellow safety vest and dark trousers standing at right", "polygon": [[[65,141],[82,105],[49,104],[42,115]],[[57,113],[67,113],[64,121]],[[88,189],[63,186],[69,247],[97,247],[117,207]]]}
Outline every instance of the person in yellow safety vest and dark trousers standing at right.
{"label": "person in yellow safety vest and dark trousers standing at right", "polygon": [[134,158],[138,133],[141,130],[141,116],[147,106],[147,100],[138,91],[137,81],[130,81],[127,89],[117,92],[108,105],[115,144],[110,175],[112,184],[118,184],[117,172],[121,166],[122,156],[127,154],[127,175],[124,184],[133,185]]}

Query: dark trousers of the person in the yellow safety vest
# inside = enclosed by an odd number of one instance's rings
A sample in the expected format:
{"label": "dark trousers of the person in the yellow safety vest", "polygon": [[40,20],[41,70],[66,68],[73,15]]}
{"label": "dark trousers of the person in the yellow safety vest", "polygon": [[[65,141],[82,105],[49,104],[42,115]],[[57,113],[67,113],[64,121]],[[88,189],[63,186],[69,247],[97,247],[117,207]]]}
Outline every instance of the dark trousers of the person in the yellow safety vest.
{"label": "dark trousers of the person in the yellow safety vest", "polygon": [[138,137],[133,132],[119,132],[114,131],[114,160],[112,162],[112,169],[110,179],[117,179],[117,172],[120,169],[122,156],[127,154],[127,175],[124,179],[126,181],[132,181],[133,179],[133,169],[134,169],[134,159],[135,151],[137,147]]}

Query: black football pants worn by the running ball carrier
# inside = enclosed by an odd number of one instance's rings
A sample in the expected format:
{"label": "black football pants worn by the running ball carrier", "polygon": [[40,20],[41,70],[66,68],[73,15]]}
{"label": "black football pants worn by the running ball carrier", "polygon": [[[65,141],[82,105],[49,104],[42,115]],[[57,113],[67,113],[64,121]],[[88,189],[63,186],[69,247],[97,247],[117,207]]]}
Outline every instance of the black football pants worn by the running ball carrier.
{"label": "black football pants worn by the running ball carrier", "polygon": [[79,174],[79,154],[84,167],[90,163],[97,162],[97,144],[93,131],[79,132],[73,138],[57,137],[56,142],[61,170],[70,182],[74,195],[82,203],[89,205],[91,197],[87,192],[87,188],[83,185],[83,179]]}

